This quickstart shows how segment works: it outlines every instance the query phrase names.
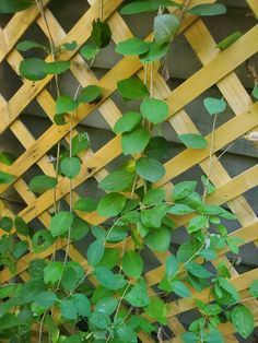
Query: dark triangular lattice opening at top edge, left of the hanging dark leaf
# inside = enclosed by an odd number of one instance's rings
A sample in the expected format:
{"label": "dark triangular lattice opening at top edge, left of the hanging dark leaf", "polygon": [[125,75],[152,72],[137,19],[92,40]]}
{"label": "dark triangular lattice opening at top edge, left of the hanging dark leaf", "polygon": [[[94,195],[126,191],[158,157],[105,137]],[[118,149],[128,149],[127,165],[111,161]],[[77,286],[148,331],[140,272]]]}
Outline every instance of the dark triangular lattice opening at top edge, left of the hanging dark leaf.
{"label": "dark triangular lattice opening at top edge, left of the hanging dark leaf", "polygon": [[56,16],[62,28],[68,33],[90,9],[85,0],[54,0],[48,9]]}

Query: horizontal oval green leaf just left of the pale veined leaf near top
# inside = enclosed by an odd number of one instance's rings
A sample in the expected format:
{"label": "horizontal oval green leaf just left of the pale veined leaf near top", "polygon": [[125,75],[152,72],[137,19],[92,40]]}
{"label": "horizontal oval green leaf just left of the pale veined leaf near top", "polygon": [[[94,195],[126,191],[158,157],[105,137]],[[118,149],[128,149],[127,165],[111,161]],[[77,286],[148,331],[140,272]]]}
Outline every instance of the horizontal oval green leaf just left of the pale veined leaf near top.
{"label": "horizontal oval green leaf just left of the pale veined leaf near top", "polygon": [[121,55],[141,55],[149,50],[149,44],[138,37],[118,43],[116,52]]}

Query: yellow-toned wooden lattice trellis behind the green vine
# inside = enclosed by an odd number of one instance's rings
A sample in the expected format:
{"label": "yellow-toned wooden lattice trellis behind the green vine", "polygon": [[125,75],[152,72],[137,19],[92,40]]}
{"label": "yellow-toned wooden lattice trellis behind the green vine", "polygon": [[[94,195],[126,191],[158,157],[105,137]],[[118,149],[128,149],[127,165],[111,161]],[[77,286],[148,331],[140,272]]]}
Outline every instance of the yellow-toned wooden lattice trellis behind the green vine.
{"label": "yellow-toned wooden lattice trellis behind the green vine", "polygon": [[[246,1],[255,15],[258,16],[257,0]],[[55,44],[59,46],[62,43],[75,40],[79,49],[90,37],[92,21],[99,16],[101,1],[89,0],[91,8],[81,16],[68,34],[64,33],[51,11],[47,9],[48,2],[50,1],[45,0],[44,4],[46,5],[46,17]],[[212,3],[215,1],[206,0],[204,2]],[[117,9],[121,3],[122,0],[104,1],[104,19],[108,20],[115,44],[132,36],[130,28],[117,12]],[[192,0],[192,4],[199,3],[203,3],[203,1]],[[5,60],[17,74],[22,56],[15,49],[15,45],[26,29],[35,22],[47,36],[47,27],[36,7],[32,7],[24,12],[15,14],[11,17],[4,29],[0,31],[0,61]],[[215,156],[215,152],[228,143],[242,138],[247,132],[258,130],[258,104],[253,103],[250,96],[234,72],[239,64],[244,63],[258,51],[258,25],[254,26],[241,39],[222,52],[215,48],[215,42],[201,19],[189,14],[185,15],[181,32],[195,50],[196,56],[201,61],[202,68],[174,91],[171,91],[163,78],[160,74],[156,74],[154,78],[153,94],[155,97],[167,99],[169,106],[168,121],[174,130],[178,134],[187,132],[192,133],[198,132],[198,130],[184,109],[185,106],[211,86],[218,86],[235,116],[215,130],[211,180],[216,186],[216,191],[208,197],[208,202],[213,204],[226,203],[237,216],[237,220],[242,225],[239,229],[233,232],[231,235],[244,238],[245,244],[254,243],[258,248],[258,220],[248,202],[242,196],[244,192],[258,186],[258,166],[256,165],[234,178],[231,178],[227,170]],[[71,60],[71,72],[83,87],[89,84],[97,84],[103,90],[103,99],[101,104],[81,105],[79,107],[73,120],[74,131],[77,130],[77,125],[96,107],[110,128],[113,128],[121,114],[110,98],[110,95],[116,91],[117,82],[119,80],[129,78],[133,74],[143,78],[143,69],[139,59],[137,57],[122,58],[101,80],[97,80],[94,73],[89,70],[87,64],[78,50],[62,52],[60,59]],[[47,60],[50,61],[51,57],[49,56]],[[52,191],[47,191],[43,196],[36,197],[28,191],[23,175],[33,165],[37,165],[44,174],[55,176],[55,170],[52,165],[48,162],[46,153],[61,139],[68,139],[69,125],[59,127],[52,123],[44,134],[35,140],[33,134],[22,122],[20,115],[23,109],[35,99],[52,121],[55,115],[55,100],[46,88],[51,79],[52,76],[48,75],[36,83],[23,80],[22,86],[8,103],[3,97],[0,97],[0,133],[10,129],[25,147],[25,152],[19,156],[13,165],[9,167],[1,165],[1,170],[14,175],[15,181],[11,186],[0,185],[0,192],[5,191],[8,187],[15,189],[26,203],[26,208],[22,210],[19,215],[27,223],[34,218],[38,218],[46,228],[49,226],[51,218],[48,210],[54,203],[54,193]],[[210,142],[210,134],[207,135],[207,140]],[[115,137],[95,153],[89,150],[86,153],[81,154],[80,157],[83,161],[82,169],[73,182],[73,188],[77,188],[90,177],[94,177],[97,181],[102,180],[107,174],[105,166],[120,154],[120,137]],[[189,149],[185,149],[177,156],[165,163],[166,174],[155,186],[163,187],[169,191],[173,188],[173,179],[195,165],[199,165],[204,174],[209,173],[209,149],[195,151],[195,153]],[[63,198],[69,201],[69,180],[64,178],[60,179],[56,194],[58,200]],[[73,199],[78,199],[75,191],[73,192]],[[1,215],[13,216],[13,213],[11,213],[3,203],[0,203],[0,209]],[[81,215],[81,213],[78,214]],[[103,221],[103,218],[98,217],[95,212],[83,215],[82,217],[91,224],[101,224]],[[180,226],[186,224],[187,220],[189,220],[189,217],[185,216],[180,220],[176,220],[176,223]],[[126,241],[126,248],[132,246],[130,239]],[[60,239],[57,249],[61,250],[64,246],[66,239]],[[117,248],[122,247],[118,244]],[[232,282],[239,291],[241,296],[245,298],[248,286],[253,281],[258,279],[258,270],[254,269],[239,275],[234,269],[234,265],[232,265],[225,257],[226,252],[225,249],[220,251],[219,259],[213,261],[213,263],[216,264],[219,261],[223,260],[231,267]],[[26,270],[30,261],[35,258],[48,258],[51,253],[52,247],[37,256],[32,250],[32,252],[24,256],[17,262],[17,275],[26,281]],[[164,261],[168,253],[169,252],[156,253],[156,258],[161,265],[149,271],[144,275],[150,287],[150,293],[153,292],[151,286],[157,284],[164,275]],[[75,247],[71,246],[69,257],[71,260],[80,262],[85,270],[89,270],[86,259]],[[0,272],[0,283],[5,283],[12,277],[13,275],[8,269]],[[90,276],[90,279],[94,283],[94,277]],[[212,300],[208,291],[203,291],[199,294],[194,291],[194,298],[199,298],[204,303]],[[255,316],[256,326],[258,326],[258,301],[246,300],[244,304],[251,309]],[[184,298],[169,303],[168,326],[175,336],[169,342],[180,341],[179,334],[185,331],[185,328],[179,322],[178,315],[190,310],[194,307],[195,301],[192,298]],[[233,326],[221,324],[220,330],[228,342],[237,342],[237,339],[234,336],[235,330]],[[151,336],[144,333],[140,333],[139,338],[142,342],[154,342]]]}

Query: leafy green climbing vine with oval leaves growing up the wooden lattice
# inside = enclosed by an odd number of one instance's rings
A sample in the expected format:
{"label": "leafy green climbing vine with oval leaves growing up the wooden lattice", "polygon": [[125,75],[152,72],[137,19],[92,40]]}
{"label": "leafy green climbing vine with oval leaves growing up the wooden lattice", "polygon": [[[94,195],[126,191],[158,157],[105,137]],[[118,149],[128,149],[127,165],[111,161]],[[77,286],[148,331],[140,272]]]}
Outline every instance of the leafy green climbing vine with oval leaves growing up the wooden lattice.
{"label": "leafy green climbing vine with oval leaves growing up the wooden lattice", "polygon": [[[165,63],[175,35],[180,31],[186,13],[194,15],[220,15],[226,12],[223,4],[191,7],[191,1],[177,3],[171,0],[133,1],[124,5],[122,15],[156,13],[153,35],[149,40],[131,37],[116,46],[122,56],[138,56],[144,69],[143,78],[133,75],[117,83],[117,90],[126,100],[138,99],[138,110],[129,110],[117,120],[113,130],[121,137],[125,156],[133,156],[120,168],[109,173],[98,184],[105,191],[99,200],[82,197],[73,200],[73,182],[85,173],[80,158],[91,142],[87,134],[74,133],[73,118],[82,104],[96,105],[104,99],[97,85],[80,86],[74,97],[62,94],[58,75],[70,69],[70,62],[61,60],[63,51],[80,49],[81,56],[91,68],[99,50],[109,45],[112,31],[104,20],[101,1],[99,17],[92,23],[91,42],[79,47],[77,42],[55,46],[49,32],[49,46],[38,42],[23,40],[19,51],[40,49],[49,55],[47,60],[30,57],[20,64],[21,76],[32,82],[55,75],[57,85],[57,126],[69,127],[68,147],[60,152],[52,163],[56,176],[39,175],[28,185],[30,191],[42,196],[54,191],[62,179],[69,180],[69,209],[60,209],[55,200],[55,213],[48,229],[33,233],[19,215],[2,216],[0,227],[4,232],[0,239],[0,265],[16,274],[17,261],[31,249],[40,253],[55,247],[52,256],[35,259],[30,264],[26,283],[13,282],[0,285],[0,338],[10,342],[30,342],[33,331],[38,331],[38,342],[138,342],[138,332],[152,334],[162,342],[162,334],[173,315],[168,296],[192,297],[194,292],[209,289],[209,299],[194,299],[199,311],[188,331],[181,334],[184,342],[224,342],[219,324],[232,322],[236,331],[247,339],[254,330],[254,317],[242,304],[243,299],[231,283],[228,268],[220,262],[211,269],[210,261],[220,256],[221,249],[238,253],[244,241],[227,234],[223,220],[234,221],[235,215],[220,205],[209,204],[207,197],[215,191],[212,178],[212,153],[218,116],[223,115],[227,104],[223,98],[208,97],[203,106],[207,115],[213,117],[210,142],[201,134],[184,133],[178,139],[192,150],[209,149],[209,173],[201,180],[185,180],[168,191],[159,187],[166,176],[164,157],[171,144],[154,130],[169,115],[167,102],[154,95],[153,74]],[[0,0],[0,13],[23,11],[38,5],[40,1]],[[175,10],[165,12],[165,8]],[[46,16],[44,17],[47,24]],[[241,33],[234,33],[218,44],[221,50],[230,47]],[[33,52],[32,52],[33,54]],[[163,66],[164,67],[164,66]],[[258,99],[255,84],[253,96]],[[0,162],[11,165],[14,158],[2,152]],[[0,172],[0,184],[12,184],[14,177]],[[198,185],[199,184],[199,185]],[[200,187],[202,185],[202,188]],[[198,187],[199,186],[199,187]],[[201,191],[197,191],[201,189]],[[56,197],[54,197],[56,199]],[[97,213],[107,218],[105,225],[90,225],[80,214]],[[175,221],[187,215],[188,240],[169,253],[164,267],[159,292],[151,293],[144,277],[145,261],[141,251],[166,252],[172,244]],[[14,229],[13,229],[14,228]],[[70,243],[84,239],[87,265],[69,260]],[[64,241],[64,257],[57,256],[58,243]],[[129,248],[128,248],[129,247]],[[89,283],[89,280],[91,281]],[[258,297],[258,282],[249,287],[250,298]],[[164,331],[165,332],[165,331]]]}

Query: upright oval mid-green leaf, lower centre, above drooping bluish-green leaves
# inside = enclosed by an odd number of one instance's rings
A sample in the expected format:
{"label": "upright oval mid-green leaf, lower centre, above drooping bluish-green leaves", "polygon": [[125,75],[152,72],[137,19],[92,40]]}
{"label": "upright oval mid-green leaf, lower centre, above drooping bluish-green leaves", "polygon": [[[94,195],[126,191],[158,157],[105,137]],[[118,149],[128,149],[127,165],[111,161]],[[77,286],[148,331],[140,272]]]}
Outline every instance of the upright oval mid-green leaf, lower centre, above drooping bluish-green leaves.
{"label": "upright oval mid-green leaf, lower centre, above drooping bluish-green leaves", "polygon": [[121,265],[124,272],[130,277],[138,279],[143,272],[143,260],[140,253],[134,250],[125,252]]}

